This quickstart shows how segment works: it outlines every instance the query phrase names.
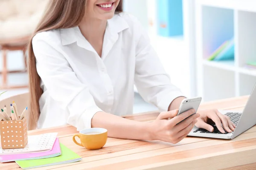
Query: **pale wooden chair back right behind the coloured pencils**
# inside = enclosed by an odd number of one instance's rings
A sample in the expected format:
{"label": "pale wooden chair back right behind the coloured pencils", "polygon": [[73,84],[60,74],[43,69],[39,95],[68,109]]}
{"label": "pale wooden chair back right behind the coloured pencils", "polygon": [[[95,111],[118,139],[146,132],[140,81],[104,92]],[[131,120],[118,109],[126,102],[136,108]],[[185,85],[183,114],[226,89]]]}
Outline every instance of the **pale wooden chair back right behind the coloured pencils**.
{"label": "pale wooden chair back right behind the coloured pencils", "polygon": [[[8,93],[8,91],[6,93]],[[0,97],[0,99],[1,99],[1,97]],[[17,110],[18,110],[18,113],[20,116],[20,114],[23,112],[23,110],[29,105],[29,93],[18,94],[18,95],[11,96],[9,98],[0,100],[0,108],[3,109],[4,105],[6,105],[7,114],[9,116],[11,116],[10,104],[12,103],[12,101],[15,101],[15,103],[17,105]]]}

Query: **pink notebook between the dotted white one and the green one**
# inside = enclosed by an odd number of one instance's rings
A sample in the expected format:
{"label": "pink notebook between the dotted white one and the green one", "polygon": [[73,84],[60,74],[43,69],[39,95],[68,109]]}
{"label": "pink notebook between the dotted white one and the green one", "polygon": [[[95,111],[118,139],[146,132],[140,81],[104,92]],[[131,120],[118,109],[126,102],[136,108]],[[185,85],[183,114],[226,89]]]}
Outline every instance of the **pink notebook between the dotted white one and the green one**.
{"label": "pink notebook between the dotted white one and the green one", "polygon": [[58,138],[56,138],[52,150],[38,153],[21,153],[12,155],[0,155],[0,162],[32,160],[32,159],[44,159],[52,158],[61,155],[61,148]]}

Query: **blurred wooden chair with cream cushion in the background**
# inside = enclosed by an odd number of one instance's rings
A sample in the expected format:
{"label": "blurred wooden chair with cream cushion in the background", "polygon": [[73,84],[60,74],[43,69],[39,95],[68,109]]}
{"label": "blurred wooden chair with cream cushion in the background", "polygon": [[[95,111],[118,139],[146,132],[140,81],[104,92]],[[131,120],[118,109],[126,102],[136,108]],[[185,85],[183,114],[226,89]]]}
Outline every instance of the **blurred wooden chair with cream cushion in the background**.
{"label": "blurred wooden chair with cream cushion in the background", "polygon": [[[10,73],[26,73],[26,44],[32,36],[38,21],[44,14],[49,0],[0,0],[0,52],[3,56],[1,88],[26,88],[28,85],[10,86],[7,75]],[[8,51],[23,51],[25,67],[22,70],[7,69]]]}

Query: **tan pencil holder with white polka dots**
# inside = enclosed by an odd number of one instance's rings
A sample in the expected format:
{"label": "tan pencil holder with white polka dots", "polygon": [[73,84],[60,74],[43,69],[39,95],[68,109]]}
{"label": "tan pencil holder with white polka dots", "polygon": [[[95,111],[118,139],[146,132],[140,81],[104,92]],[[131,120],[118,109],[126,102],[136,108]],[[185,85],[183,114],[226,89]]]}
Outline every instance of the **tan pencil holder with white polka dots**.
{"label": "tan pencil holder with white polka dots", "polygon": [[26,117],[22,120],[0,121],[2,149],[24,148],[28,143]]}

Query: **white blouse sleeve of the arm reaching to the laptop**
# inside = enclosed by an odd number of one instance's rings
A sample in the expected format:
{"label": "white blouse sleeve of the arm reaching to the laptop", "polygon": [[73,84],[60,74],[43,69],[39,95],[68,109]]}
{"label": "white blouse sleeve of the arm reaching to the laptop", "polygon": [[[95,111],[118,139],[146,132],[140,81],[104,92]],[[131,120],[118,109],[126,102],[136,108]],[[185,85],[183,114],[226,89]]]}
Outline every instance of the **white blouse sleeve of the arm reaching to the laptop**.
{"label": "white blouse sleeve of the arm reaching to the laptop", "polygon": [[135,85],[146,102],[157,106],[160,111],[167,111],[170,103],[183,94],[171,83],[147,32],[137,20],[134,25],[137,30]]}

